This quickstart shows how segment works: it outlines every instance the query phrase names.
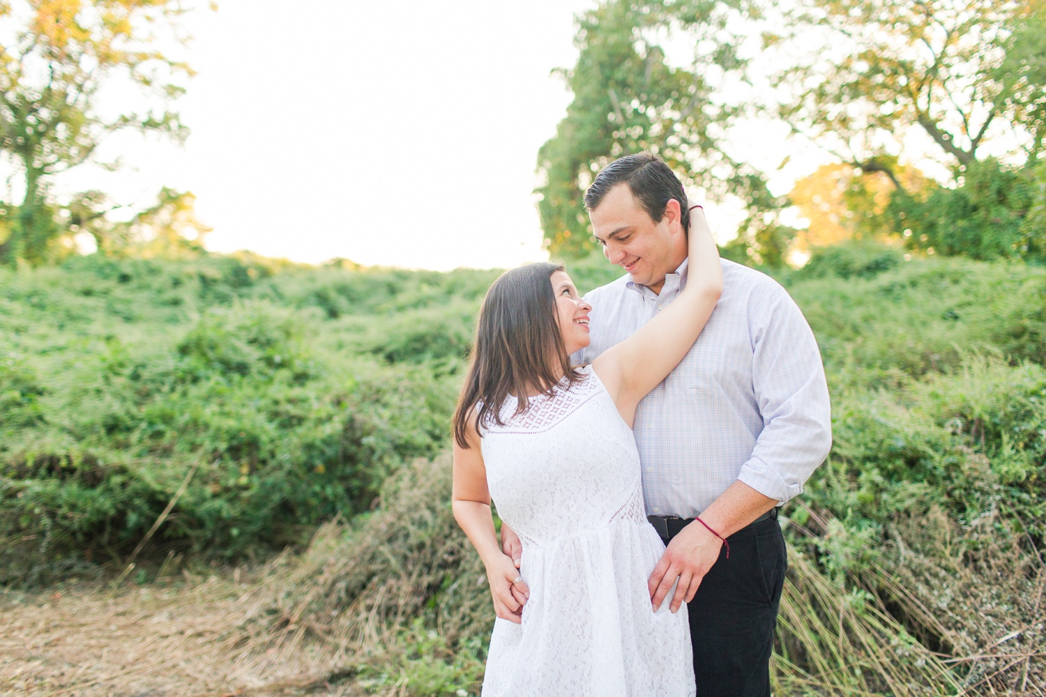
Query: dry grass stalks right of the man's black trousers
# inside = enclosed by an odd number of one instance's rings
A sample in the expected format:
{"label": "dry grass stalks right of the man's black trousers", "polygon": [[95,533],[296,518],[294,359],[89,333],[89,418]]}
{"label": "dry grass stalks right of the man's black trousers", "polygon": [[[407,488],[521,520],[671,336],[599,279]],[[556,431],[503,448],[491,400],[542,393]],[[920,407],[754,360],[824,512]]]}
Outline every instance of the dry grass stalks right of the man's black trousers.
{"label": "dry grass stalks right of the man's black trousers", "polygon": [[997,514],[959,526],[939,508],[897,519],[848,591],[790,549],[777,690],[1046,695],[1046,566],[1011,527]]}

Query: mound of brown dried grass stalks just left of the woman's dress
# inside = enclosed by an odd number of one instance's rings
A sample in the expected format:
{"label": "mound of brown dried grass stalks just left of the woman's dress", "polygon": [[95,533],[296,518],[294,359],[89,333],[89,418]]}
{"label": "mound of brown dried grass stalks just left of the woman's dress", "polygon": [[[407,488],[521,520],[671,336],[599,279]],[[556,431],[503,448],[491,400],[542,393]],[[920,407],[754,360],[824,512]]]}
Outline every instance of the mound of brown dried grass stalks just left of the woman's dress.
{"label": "mound of brown dried grass stalks just left of the woman's dress", "polygon": [[488,634],[486,577],[450,494],[449,456],[418,460],[362,520],[320,528],[296,565],[274,576],[272,619],[258,628],[270,646],[290,655],[321,645],[322,672],[395,663],[396,636],[419,618],[451,651]]}

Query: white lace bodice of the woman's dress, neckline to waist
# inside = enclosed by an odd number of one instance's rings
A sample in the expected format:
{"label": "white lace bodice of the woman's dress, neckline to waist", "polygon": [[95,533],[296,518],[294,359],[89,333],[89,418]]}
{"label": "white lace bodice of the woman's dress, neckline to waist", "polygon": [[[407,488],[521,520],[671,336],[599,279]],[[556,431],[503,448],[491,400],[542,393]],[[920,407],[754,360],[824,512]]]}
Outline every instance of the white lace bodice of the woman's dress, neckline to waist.
{"label": "white lace bodice of the woman's dress, neckline to waist", "polygon": [[618,520],[645,522],[632,429],[591,366],[517,414],[482,424],[487,487],[524,544],[547,545]]}

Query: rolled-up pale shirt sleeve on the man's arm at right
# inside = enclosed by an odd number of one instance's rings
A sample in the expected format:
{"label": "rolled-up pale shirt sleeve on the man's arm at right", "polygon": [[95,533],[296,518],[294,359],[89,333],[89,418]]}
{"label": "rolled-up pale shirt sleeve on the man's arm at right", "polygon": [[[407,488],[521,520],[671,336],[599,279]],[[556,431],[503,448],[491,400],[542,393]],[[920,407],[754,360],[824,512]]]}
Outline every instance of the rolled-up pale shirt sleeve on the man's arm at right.
{"label": "rolled-up pale shirt sleeve on the man's arm at right", "polygon": [[828,387],[814,332],[788,293],[775,286],[751,303],[752,387],[763,432],[737,480],[783,503],[802,493],[832,447]]}

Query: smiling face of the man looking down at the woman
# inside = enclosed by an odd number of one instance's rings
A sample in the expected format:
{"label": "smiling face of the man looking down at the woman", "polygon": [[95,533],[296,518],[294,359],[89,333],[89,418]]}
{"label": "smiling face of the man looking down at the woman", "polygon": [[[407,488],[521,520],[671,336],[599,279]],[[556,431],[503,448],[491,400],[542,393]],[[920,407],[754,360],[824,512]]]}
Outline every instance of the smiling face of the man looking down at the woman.
{"label": "smiling face of the man looking down at the woman", "polygon": [[661,292],[665,274],[674,273],[686,258],[678,201],[669,201],[661,220],[655,223],[629,185],[621,183],[589,211],[589,217],[607,259],[655,293]]}

